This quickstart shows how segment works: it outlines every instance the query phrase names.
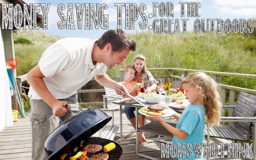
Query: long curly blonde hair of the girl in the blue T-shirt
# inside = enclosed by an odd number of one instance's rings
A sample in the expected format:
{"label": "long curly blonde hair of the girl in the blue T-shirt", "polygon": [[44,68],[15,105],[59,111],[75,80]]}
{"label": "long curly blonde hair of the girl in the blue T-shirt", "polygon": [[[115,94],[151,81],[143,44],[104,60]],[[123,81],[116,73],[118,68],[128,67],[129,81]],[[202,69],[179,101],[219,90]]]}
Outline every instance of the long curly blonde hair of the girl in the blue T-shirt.
{"label": "long curly blonde hair of the girl in the blue T-shirt", "polygon": [[219,116],[221,115],[221,96],[218,91],[218,84],[207,74],[202,72],[192,73],[187,76],[182,84],[190,84],[193,87],[201,88],[201,98],[205,108],[206,122],[210,125],[219,124]]}

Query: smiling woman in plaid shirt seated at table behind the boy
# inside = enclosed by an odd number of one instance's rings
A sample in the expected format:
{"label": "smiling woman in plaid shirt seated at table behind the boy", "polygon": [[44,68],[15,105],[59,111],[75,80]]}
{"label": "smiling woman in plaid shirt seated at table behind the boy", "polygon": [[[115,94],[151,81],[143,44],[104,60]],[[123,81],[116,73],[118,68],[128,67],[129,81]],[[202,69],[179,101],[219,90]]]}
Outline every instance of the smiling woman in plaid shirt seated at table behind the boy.
{"label": "smiling woman in plaid shirt seated at table behind the boy", "polygon": [[[136,55],[133,60],[134,67],[136,70],[134,80],[138,83],[142,83],[143,87],[141,88],[141,92],[145,94],[151,93],[151,90],[155,90],[157,87],[157,81],[154,79],[152,74],[146,70],[146,64],[145,64],[145,57],[143,55]],[[125,106],[125,114],[129,121],[131,122],[131,125],[136,128],[136,121],[135,121],[135,114],[134,114],[135,108],[134,107],[128,107]],[[145,122],[145,116],[142,114],[139,114],[139,125],[140,127],[144,125]],[[139,134],[139,141],[141,145],[146,145],[147,140],[145,139],[144,132],[140,132]]]}

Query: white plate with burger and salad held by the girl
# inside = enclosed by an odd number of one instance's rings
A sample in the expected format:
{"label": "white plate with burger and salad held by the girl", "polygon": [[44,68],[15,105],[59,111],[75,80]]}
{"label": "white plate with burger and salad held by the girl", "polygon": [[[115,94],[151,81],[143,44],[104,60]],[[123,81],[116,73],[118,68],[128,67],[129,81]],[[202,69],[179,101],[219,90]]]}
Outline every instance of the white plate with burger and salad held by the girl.
{"label": "white plate with burger and salad held by the girl", "polygon": [[175,111],[160,105],[149,105],[147,108],[140,108],[139,113],[145,116],[157,117],[161,115],[162,117],[166,117],[174,115]]}

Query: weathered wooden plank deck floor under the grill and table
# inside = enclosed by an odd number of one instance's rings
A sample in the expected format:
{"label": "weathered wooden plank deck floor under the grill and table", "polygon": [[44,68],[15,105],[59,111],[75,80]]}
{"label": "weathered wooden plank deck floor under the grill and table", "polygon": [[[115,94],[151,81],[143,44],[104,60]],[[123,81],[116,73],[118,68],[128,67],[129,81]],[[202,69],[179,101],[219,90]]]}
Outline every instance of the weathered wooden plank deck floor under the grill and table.
{"label": "weathered wooden plank deck floor under the grill and table", "polygon": [[[109,113],[109,115],[111,115],[111,113]],[[118,111],[114,112],[114,123],[115,125],[119,125]],[[123,149],[121,159],[147,160],[136,155],[136,134],[132,126],[128,125],[128,120],[124,113],[122,114],[122,123],[124,137],[115,137],[114,139]],[[111,125],[111,121],[108,125]],[[148,144],[146,146],[140,145],[140,152],[160,159],[160,142],[157,142],[157,136],[145,133],[145,137],[148,140]],[[172,142],[172,139],[170,138],[162,139]],[[5,130],[0,131],[0,160],[31,160],[31,140],[29,116],[26,116],[26,118],[19,118],[17,122],[14,122],[13,127],[8,127],[5,128]],[[206,143],[206,141],[204,143]],[[212,138],[210,143],[230,143],[230,141]]]}

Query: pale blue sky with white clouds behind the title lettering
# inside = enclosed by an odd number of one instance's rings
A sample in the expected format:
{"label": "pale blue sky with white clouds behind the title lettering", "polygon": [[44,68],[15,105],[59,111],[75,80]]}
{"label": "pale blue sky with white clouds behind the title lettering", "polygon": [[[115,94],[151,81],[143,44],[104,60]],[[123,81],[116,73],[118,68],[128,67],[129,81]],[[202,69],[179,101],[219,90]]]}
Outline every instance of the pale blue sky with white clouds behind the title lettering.
{"label": "pale blue sky with white clouds behind the title lettering", "polygon": [[[200,17],[187,17],[186,16],[186,6],[185,6],[185,17],[180,17],[180,4],[179,2],[200,2],[201,7],[198,10],[198,14],[201,15]],[[150,26],[153,24],[154,19],[160,19],[160,18],[174,18],[174,21],[176,18],[179,18],[180,20],[180,29],[182,32],[182,21],[181,18],[189,18],[187,21],[187,30],[188,32],[194,32],[194,21],[196,18],[202,19],[202,18],[221,18],[223,20],[230,19],[233,20],[235,18],[244,18],[248,20],[249,18],[256,18],[256,0],[168,0],[168,1],[150,1],[150,0],[24,0],[26,3],[51,3],[49,7],[48,12],[48,29],[39,29],[41,32],[50,34],[50,35],[60,35],[63,37],[78,37],[78,38],[99,38],[104,32],[107,31],[107,29],[102,29],[99,26],[99,29],[95,28],[95,25],[93,24],[93,29],[84,29],[85,27],[85,15],[83,15],[83,21],[82,21],[82,28],[78,29],[77,25],[77,16],[76,16],[76,7],[75,3],[93,3],[93,6],[96,9],[96,3],[99,3],[99,6],[105,3],[108,6],[108,9],[104,10],[104,15],[109,15],[108,19],[108,27],[109,29],[116,29],[117,28],[117,7],[115,6],[115,3],[135,3],[139,7],[141,4],[145,4],[147,9],[144,10],[145,15],[148,19],[148,24],[145,29],[140,29],[139,22],[143,21],[141,16],[139,15],[138,19],[134,22],[135,26],[134,29],[125,29],[125,6],[122,7],[122,29],[127,33],[136,33],[136,32],[142,32],[146,30],[150,30],[153,32],[152,29],[150,29]],[[59,29],[58,28],[58,21],[61,21],[61,18],[58,15],[57,7],[60,3],[62,3],[65,6],[65,9],[63,10],[63,13],[65,17],[67,18],[67,8],[68,3],[73,2],[73,14],[74,14],[74,26],[75,29]],[[174,17],[160,17],[158,8],[157,8],[157,17],[149,18],[150,14],[153,14],[153,2],[158,2],[158,5],[161,2],[172,2],[174,5],[174,11],[172,12],[174,14]],[[42,14],[41,7],[38,7],[40,9],[39,14]],[[157,23],[160,25],[160,22]],[[172,31],[174,30],[174,25],[172,25]],[[181,33],[182,34],[182,33]]]}

